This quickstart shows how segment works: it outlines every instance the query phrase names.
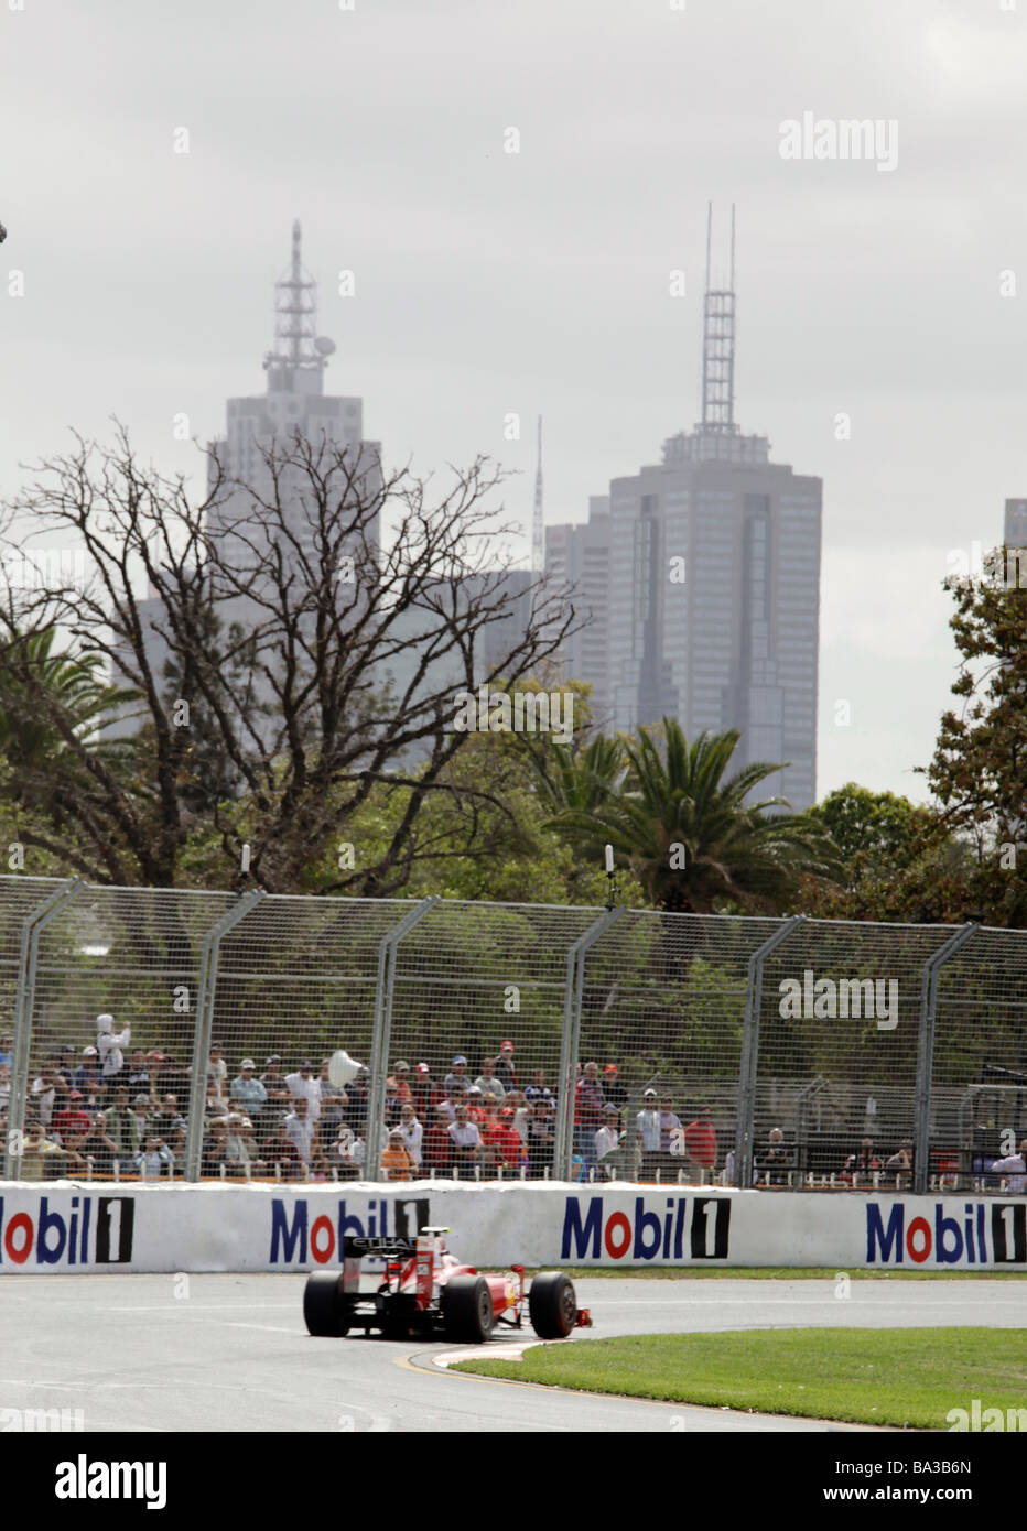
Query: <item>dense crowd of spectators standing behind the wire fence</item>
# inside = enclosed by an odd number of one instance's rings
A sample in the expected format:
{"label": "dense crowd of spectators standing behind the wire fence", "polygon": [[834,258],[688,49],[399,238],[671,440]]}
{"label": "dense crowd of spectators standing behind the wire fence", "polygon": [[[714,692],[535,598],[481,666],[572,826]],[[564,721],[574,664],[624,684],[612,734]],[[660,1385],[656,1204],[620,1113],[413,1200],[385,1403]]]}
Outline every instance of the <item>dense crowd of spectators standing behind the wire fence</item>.
{"label": "dense crowd of spectators standing behind the wire fence", "polygon": [[[55,1174],[122,1177],[181,1173],[191,1069],[161,1049],[132,1049],[129,1026],[96,1018],[96,1041],[54,1050],[29,1087],[21,1156],[24,1179]],[[0,1121],[11,1093],[11,1038],[0,1038]],[[441,1073],[441,1070],[439,1070]],[[217,1177],[360,1179],[366,1174],[370,1081],[366,1069],[343,1089],[329,1059],[303,1058],[286,1070],[271,1053],[231,1070],[223,1046],[210,1049],[205,1078],[202,1174]],[[439,1079],[427,1063],[399,1058],[386,1081],[381,1174],[389,1180],[545,1179],[557,1142],[557,1090],[545,1069],[517,1075],[514,1044],[500,1043],[474,1073],[456,1053]],[[574,1164],[582,1179],[643,1177],[716,1164],[709,1107],[683,1124],[670,1096],[647,1089],[631,1112],[617,1064],[577,1069]]]}

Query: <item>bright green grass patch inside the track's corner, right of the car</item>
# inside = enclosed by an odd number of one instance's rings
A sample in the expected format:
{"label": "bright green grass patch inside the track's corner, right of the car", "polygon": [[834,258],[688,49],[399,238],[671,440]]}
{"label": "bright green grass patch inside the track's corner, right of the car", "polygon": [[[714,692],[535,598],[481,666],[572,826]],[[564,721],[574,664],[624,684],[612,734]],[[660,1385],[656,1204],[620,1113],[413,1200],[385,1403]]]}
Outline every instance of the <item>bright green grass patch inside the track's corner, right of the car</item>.
{"label": "bright green grass patch inside the track's corner, right of the car", "polygon": [[461,1372],[586,1393],[947,1430],[950,1409],[1027,1405],[1027,1329],[773,1329],[534,1346]]}

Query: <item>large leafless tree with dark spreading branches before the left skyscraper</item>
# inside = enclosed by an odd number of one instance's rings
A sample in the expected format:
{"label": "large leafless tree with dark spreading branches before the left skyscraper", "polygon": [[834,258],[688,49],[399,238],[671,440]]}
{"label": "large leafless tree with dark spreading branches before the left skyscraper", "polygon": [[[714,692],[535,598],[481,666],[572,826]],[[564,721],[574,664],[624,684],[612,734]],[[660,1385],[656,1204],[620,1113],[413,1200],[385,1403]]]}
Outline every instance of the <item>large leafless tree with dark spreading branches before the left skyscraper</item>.
{"label": "large leafless tree with dark spreading branches before the left skyscraper", "polygon": [[[80,545],[89,574],[84,588],[6,585],[0,706],[46,720],[73,761],[63,811],[92,876],[176,883],[197,824],[202,720],[227,795],[210,805],[211,824],[236,859],[245,805],[259,885],[303,886],[328,837],[384,784],[404,790],[403,813],[373,862],[343,871],[338,888],[395,891],[418,856],[429,795],[491,799],[487,782],[447,781],[467,739],[453,729],[458,692],[540,672],[574,609],[545,579],[523,591],[496,566],[513,527],[488,508],[504,475],[487,459],[452,468],[432,495],[409,468],[383,479],[367,449],[300,435],[260,452],[253,482],[230,479],[217,450],[208,458],[199,505],[182,475],[139,464],[122,427],[112,447],[77,436],[75,450],[38,465],[8,505],[0,554],[20,553],[31,525]],[[26,634],[54,628],[70,655],[101,655],[112,687],[138,697],[130,752],[98,749],[26,658]],[[487,645],[496,631],[499,648]]]}

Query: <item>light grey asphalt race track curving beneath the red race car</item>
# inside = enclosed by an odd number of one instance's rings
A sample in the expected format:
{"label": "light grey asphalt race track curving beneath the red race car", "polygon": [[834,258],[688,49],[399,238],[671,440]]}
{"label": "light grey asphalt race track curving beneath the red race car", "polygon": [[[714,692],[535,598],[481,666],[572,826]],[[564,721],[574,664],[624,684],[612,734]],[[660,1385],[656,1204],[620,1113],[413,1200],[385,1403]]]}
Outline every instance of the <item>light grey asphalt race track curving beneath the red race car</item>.
{"label": "light grey asphalt race track curving beneath the red race car", "polygon": [[[1019,1281],[583,1280],[585,1337],[796,1326],[1019,1327]],[[312,1340],[302,1275],[0,1280],[0,1410],[80,1409],[87,1431],[856,1427],[447,1375],[442,1341]],[[491,1347],[516,1338],[500,1329]],[[577,1338],[569,1341],[579,1343]]]}

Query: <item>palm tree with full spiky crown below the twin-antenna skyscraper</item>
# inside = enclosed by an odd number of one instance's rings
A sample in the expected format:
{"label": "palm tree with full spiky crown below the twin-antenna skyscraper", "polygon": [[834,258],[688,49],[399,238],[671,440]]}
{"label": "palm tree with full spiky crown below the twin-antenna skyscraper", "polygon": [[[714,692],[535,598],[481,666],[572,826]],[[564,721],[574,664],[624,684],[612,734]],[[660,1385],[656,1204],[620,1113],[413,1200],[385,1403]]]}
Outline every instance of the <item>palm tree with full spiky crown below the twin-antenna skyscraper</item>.
{"label": "palm tree with full spiky crown below the twin-antenna skyscraper", "polygon": [[753,762],[722,781],[738,747],[736,730],[703,733],[687,744],[681,724],[663,720],[664,749],[647,729],[623,746],[628,770],[591,805],[568,805],[549,828],[589,848],[608,842],[652,903],[683,914],[735,905],[778,912],[800,876],[834,879],[837,853],[805,814],[768,814],[785,798],[745,799],[781,766]]}

